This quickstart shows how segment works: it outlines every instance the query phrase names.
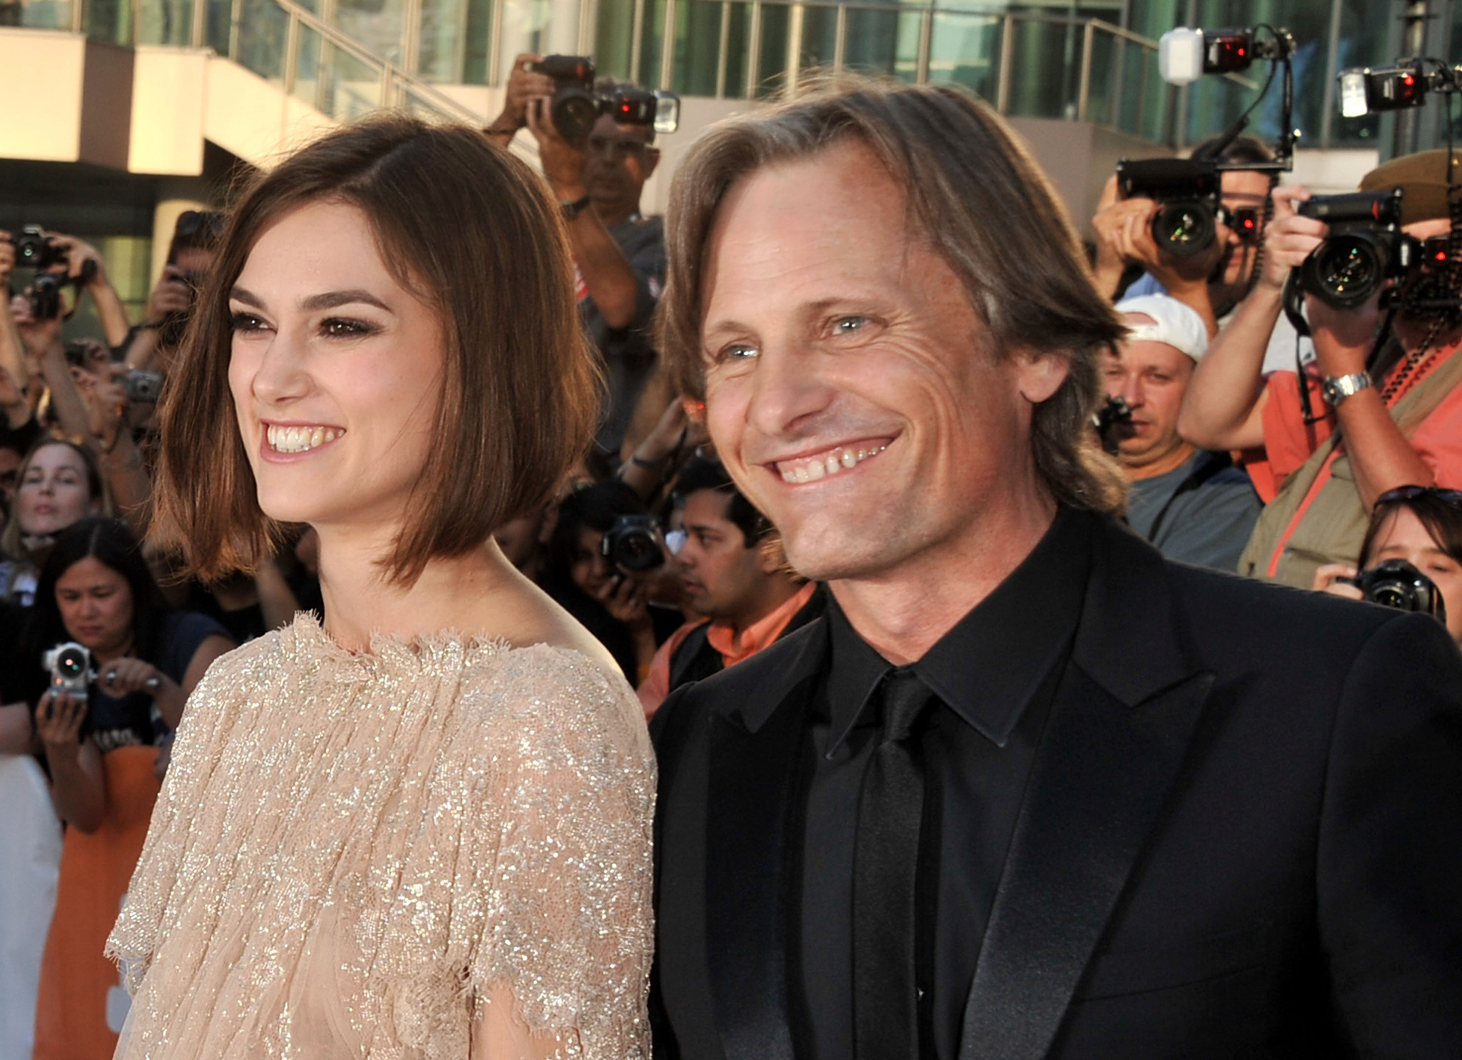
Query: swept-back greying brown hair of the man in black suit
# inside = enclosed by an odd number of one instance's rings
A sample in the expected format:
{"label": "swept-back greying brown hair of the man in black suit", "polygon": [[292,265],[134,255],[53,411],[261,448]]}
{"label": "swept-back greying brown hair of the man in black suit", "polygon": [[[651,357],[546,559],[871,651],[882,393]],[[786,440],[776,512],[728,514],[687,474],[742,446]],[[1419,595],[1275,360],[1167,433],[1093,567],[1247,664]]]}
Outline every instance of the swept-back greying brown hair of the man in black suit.
{"label": "swept-back greying brown hair of the man in black suit", "polygon": [[[732,184],[766,165],[863,140],[906,192],[908,228],[963,282],[996,357],[1061,357],[1070,374],[1032,415],[1037,474],[1072,507],[1118,512],[1121,469],[1098,444],[1096,355],[1126,328],[1092,285],[1050,181],[987,104],[953,86],[841,76],[781,105],[722,121],[681,161],[665,222],[670,270],[659,348],[684,393],[705,396],[700,341],[706,249]],[[977,351],[971,351],[975,355]]]}

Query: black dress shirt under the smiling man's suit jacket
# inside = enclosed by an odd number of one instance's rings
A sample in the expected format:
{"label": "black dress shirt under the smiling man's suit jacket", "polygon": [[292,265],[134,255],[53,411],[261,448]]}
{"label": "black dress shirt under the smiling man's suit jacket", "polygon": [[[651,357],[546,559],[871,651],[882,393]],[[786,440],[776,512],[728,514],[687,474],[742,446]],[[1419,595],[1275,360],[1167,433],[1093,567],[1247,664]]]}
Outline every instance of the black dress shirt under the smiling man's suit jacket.
{"label": "black dress shirt under the smiling man's suit jacket", "polygon": [[[1061,510],[1035,550],[915,664],[934,692],[920,735],[925,826],[915,964],[924,1056],[955,1060],[965,997],[1026,775],[1070,656],[1091,564],[1091,520]],[[789,983],[800,1053],[852,1057],[852,861],[858,791],[877,744],[870,705],[892,664],[827,605],[830,652],[813,699]]]}

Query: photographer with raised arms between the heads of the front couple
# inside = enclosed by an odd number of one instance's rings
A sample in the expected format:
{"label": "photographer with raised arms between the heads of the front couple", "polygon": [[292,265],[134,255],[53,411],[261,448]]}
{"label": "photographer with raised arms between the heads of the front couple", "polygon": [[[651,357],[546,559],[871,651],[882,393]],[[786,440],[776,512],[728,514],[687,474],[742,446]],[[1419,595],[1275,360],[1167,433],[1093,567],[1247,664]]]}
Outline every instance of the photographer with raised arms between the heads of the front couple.
{"label": "photographer with raised arms between the heads of the front couple", "polygon": [[[608,408],[599,447],[618,456],[636,402],[655,370],[651,322],[665,285],[664,219],[640,213],[640,193],[655,173],[655,127],[621,124],[601,114],[585,143],[554,129],[554,80],[529,67],[541,56],[522,54],[507,79],[503,113],[487,133],[501,146],[526,127],[538,140],[544,177],[563,206],[569,244],[579,269],[579,308],[608,373]],[[596,91],[617,88],[611,79]]]}

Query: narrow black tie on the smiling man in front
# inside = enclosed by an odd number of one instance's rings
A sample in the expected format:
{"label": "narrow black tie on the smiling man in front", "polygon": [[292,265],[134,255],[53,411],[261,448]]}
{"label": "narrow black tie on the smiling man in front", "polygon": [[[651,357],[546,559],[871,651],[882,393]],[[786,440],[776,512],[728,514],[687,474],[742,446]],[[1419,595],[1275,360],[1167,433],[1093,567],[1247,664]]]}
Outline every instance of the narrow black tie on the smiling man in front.
{"label": "narrow black tie on the smiling man in front", "polygon": [[858,1060],[917,1060],[914,887],[924,771],[911,738],[928,687],[893,670],[880,687],[883,732],[858,797],[852,860],[852,1021]]}

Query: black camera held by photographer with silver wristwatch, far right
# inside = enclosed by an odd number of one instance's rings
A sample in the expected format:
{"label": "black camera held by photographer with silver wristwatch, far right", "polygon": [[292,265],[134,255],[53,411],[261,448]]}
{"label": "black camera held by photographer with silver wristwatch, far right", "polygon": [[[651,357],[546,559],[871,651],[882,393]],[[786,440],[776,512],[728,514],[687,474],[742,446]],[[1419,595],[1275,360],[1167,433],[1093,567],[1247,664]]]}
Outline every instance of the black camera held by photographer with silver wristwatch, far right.
{"label": "black camera held by photographer with silver wristwatch, far right", "polygon": [[1401,231],[1401,189],[1317,194],[1295,208],[1330,231],[1304,265],[1301,289],[1338,308],[1360,306],[1387,279],[1405,276],[1420,246]]}

